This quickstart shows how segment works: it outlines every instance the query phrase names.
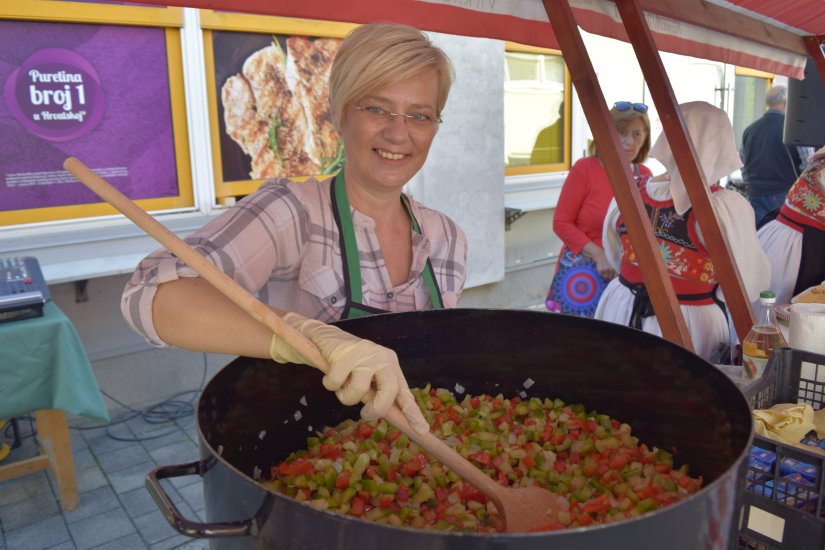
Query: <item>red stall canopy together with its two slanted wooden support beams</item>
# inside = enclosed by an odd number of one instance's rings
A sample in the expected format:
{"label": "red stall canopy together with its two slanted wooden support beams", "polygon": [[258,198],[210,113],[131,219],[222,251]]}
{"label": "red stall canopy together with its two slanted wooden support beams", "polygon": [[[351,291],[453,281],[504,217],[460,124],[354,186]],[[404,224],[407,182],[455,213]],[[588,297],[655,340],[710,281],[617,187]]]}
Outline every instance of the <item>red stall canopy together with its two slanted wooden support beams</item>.
{"label": "red stall canopy together with its two slanted wooden support beams", "polygon": [[[662,334],[693,349],[639,189],[576,27],[633,44],[725,293],[740,341],[753,312],[719,230],[676,97],[658,51],[804,78],[807,57],[825,79],[825,0],[142,0],[159,5],[325,21],[392,21],[457,35],[497,38],[562,50],[571,79],[639,256]],[[621,13],[621,15],[620,15]],[[548,14],[549,17],[548,17]],[[552,22],[550,17],[552,17]],[[555,32],[554,32],[555,29]]]}

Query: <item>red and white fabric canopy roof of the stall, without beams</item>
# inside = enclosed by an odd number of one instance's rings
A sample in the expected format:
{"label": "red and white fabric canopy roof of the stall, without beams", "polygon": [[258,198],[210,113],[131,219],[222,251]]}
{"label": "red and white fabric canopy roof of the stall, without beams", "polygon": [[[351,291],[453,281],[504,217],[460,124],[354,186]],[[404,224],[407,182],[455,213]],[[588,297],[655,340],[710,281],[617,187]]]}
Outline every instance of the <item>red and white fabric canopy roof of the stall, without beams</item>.
{"label": "red and white fabric canopy roof of the stall, without beams", "polygon": [[[557,1],[557,0],[546,0]],[[328,21],[394,21],[558,48],[542,0],[143,0]],[[825,0],[638,0],[660,51],[803,78],[804,37],[825,36]],[[628,41],[615,0],[569,0],[584,30]]]}

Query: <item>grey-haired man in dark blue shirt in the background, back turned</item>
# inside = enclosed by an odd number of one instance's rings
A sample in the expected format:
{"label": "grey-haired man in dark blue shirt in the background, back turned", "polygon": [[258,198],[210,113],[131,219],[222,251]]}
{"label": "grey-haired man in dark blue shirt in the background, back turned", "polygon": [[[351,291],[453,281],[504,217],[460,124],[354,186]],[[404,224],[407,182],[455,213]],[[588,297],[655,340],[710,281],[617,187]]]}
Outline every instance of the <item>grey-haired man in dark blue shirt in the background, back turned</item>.
{"label": "grey-haired man in dark blue shirt in the background, back turned", "polygon": [[748,182],[748,200],[756,224],[785,201],[797,177],[799,159],[782,142],[788,89],[773,86],[765,96],[768,110],[742,134],[742,177]]}

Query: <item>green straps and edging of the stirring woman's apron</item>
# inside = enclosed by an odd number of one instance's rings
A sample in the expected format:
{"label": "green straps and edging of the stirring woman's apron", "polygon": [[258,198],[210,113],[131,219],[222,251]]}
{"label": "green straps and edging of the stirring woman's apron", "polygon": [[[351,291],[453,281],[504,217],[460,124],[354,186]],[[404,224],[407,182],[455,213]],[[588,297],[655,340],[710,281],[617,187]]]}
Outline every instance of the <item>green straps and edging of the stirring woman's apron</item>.
{"label": "green straps and edging of the stirring woman's apron", "polygon": [[[361,262],[358,258],[358,244],[355,241],[355,230],[352,226],[352,213],[350,212],[347,189],[344,185],[344,171],[341,170],[332,180],[330,186],[330,196],[332,199],[332,213],[335,223],[338,226],[338,234],[341,240],[341,260],[344,264],[344,289],[347,296],[347,303],[344,306],[344,313],[341,319],[353,319],[356,317],[366,317],[376,313],[388,313],[386,310],[371,307],[361,303],[363,291],[361,288]],[[421,227],[412,213],[407,197],[402,193],[401,203],[407,210],[412,222],[413,231],[421,235]],[[424,284],[430,292],[433,309],[443,309],[444,302],[441,299],[441,292],[435,280],[433,267],[430,259],[427,258],[427,265],[421,274],[424,277]]]}

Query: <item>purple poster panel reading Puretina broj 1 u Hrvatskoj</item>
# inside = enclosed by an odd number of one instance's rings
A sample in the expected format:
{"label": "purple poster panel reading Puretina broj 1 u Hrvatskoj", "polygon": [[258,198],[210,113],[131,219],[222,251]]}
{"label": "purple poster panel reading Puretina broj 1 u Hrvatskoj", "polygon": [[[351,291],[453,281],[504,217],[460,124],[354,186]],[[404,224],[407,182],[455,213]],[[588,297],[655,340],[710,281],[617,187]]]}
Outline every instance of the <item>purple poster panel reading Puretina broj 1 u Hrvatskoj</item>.
{"label": "purple poster panel reading Puretina broj 1 u Hrvatskoj", "polygon": [[0,211],[179,195],[164,29],[0,21],[0,93]]}

